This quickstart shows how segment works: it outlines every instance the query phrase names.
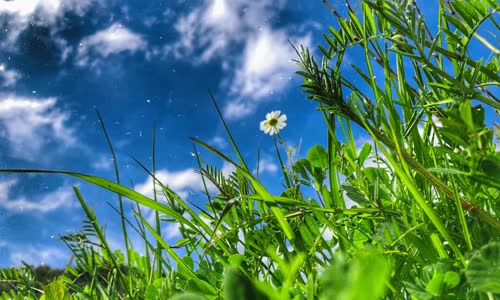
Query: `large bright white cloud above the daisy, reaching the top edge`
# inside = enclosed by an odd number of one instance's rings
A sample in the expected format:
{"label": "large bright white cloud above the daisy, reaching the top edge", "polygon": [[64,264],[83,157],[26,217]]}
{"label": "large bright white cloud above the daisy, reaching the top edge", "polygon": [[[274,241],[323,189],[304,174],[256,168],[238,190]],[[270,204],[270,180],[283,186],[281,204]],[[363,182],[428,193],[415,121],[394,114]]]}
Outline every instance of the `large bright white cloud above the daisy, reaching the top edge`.
{"label": "large bright white cloud above the daisy, reaching the top edge", "polygon": [[[272,100],[282,91],[296,70],[296,56],[288,39],[309,46],[309,34],[299,36],[269,25],[281,1],[207,0],[174,24],[179,39],[164,52],[177,59],[199,64],[223,58],[227,71],[223,86],[233,99],[224,108],[229,120],[252,114],[260,101]],[[234,56],[235,48],[243,48]]]}

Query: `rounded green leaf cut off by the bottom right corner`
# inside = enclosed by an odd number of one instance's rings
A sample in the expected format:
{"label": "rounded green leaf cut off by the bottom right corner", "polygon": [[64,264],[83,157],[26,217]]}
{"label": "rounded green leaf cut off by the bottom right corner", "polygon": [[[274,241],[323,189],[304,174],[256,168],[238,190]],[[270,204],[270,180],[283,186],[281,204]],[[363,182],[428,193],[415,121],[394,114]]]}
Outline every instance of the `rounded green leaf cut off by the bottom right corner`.
{"label": "rounded green leaf cut off by the bottom right corner", "polygon": [[483,246],[469,261],[465,276],[476,290],[500,294],[500,242]]}

